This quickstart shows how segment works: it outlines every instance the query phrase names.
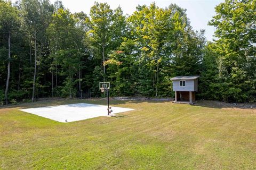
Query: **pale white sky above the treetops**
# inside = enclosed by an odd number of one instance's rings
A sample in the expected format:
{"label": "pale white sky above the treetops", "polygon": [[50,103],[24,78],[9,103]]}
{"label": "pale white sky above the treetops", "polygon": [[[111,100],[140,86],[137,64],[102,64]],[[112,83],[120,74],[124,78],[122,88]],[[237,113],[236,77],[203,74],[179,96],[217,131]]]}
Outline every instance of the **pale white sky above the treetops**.
{"label": "pale white sky above the treetops", "polygon": [[[55,0],[50,1],[51,3],[55,2]],[[169,6],[171,3],[175,3],[182,8],[187,9],[187,15],[193,28],[195,30],[205,29],[205,36],[207,40],[212,40],[214,27],[207,25],[207,22],[215,15],[214,7],[223,1],[224,0],[98,0],[97,2],[107,2],[113,10],[120,5],[124,14],[132,14],[135,11],[136,6],[143,4],[149,5],[151,2],[155,2],[157,6],[163,8]],[[71,12],[83,11],[86,14],[89,14],[94,1],[62,0],[62,3],[65,7],[69,8]]]}

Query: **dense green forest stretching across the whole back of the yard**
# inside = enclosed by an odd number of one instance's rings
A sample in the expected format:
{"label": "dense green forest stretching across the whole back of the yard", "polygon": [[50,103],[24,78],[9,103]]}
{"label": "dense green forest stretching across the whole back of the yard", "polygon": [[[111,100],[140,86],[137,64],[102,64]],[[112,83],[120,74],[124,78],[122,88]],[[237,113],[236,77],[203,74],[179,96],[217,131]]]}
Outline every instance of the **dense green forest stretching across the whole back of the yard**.
{"label": "dense green forest stretching across the whole back of the yard", "polygon": [[256,1],[226,0],[209,21],[213,41],[183,9],[139,5],[131,15],[97,3],[0,0],[0,105],[43,97],[172,97],[170,78],[200,75],[198,98],[256,101]]}

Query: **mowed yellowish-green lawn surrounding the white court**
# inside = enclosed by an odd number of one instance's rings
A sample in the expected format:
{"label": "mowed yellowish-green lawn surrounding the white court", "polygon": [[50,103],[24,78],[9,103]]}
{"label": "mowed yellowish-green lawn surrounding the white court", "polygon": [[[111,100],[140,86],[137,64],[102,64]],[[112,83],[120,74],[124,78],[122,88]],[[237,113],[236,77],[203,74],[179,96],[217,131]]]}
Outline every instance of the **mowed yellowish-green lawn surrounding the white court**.
{"label": "mowed yellowish-green lawn surrounding the white court", "polygon": [[[0,108],[0,169],[256,169],[256,110],[111,101],[117,117],[60,123]],[[210,103],[210,102],[209,102]]]}

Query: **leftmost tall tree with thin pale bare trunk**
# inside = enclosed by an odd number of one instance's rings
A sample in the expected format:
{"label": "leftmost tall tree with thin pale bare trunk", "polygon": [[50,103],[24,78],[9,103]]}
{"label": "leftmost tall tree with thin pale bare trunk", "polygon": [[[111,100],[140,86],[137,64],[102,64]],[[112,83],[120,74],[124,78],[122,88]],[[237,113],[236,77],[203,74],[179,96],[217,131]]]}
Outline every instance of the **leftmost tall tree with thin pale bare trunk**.
{"label": "leftmost tall tree with thin pale bare trunk", "polygon": [[7,58],[7,80],[5,87],[5,103],[8,104],[8,89],[10,80],[10,63],[11,63],[11,36],[19,29],[20,19],[19,11],[13,7],[11,2],[0,2],[0,30],[7,37],[8,58]]}

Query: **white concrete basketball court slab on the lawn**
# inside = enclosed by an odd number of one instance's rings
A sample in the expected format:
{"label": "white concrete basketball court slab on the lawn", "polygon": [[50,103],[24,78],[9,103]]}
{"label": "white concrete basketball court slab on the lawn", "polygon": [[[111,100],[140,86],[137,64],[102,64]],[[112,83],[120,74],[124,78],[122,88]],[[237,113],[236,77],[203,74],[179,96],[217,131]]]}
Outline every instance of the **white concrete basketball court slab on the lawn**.
{"label": "white concrete basketball court slab on the lawn", "polygon": [[[131,108],[112,107],[113,112],[111,114],[133,111]],[[74,122],[86,120],[88,118],[108,116],[107,106],[92,105],[92,104],[71,104],[49,107],[37,107],[20,109],[20,111],[31,113],[34,115],[50,118],[51,120],[58,122]],[[67,120],[67,121],[66,121]]]}

